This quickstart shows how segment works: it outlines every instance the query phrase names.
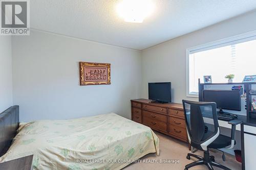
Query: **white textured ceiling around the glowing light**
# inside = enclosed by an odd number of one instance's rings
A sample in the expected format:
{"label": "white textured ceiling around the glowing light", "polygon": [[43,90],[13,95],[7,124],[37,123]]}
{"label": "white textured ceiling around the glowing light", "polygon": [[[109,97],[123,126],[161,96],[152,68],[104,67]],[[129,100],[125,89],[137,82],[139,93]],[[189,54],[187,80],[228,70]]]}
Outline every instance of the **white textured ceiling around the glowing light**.
{"label": "white textured ceiling around the glowing light", "polygon": [[32,0],[32,29],[137,50],[256,9],[255,0],[153,0],[143,23],[124,22],[114,0]]}

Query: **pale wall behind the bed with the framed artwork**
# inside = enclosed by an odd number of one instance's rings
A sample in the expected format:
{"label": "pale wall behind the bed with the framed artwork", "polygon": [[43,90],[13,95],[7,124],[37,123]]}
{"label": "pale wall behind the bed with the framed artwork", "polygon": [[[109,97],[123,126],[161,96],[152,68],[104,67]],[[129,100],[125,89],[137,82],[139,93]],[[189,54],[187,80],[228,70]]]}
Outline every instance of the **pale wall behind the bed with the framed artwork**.
{"label": "pale wall behind the bed with the framed artwork", "polygon": [[[20,120],[63,119],[115,112],[131,117],[139,98],[141,53],[31,31],[12,39],[13,103]],[[111,85],[79,85],[78,62],[111,63]]]}

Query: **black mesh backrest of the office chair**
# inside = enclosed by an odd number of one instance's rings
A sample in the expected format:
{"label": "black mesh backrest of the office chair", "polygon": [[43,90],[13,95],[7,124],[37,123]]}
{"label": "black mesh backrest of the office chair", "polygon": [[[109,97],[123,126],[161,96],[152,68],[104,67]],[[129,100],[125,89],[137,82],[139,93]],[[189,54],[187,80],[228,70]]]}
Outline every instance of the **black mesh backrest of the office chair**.
{"label": "black mesh backrest of the office chair", "polygon": [[183,100],[186,126],[190,140],[200,143],[218,131],[216,103]]}

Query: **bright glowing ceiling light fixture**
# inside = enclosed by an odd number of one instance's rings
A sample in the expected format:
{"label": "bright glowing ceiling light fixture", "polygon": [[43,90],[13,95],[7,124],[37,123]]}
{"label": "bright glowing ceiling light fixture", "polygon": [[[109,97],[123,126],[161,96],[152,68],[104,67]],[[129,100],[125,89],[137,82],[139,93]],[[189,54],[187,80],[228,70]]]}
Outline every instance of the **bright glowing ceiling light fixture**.
{"label": "bright glowing ceiling light fixture", "polygon": [[153,11],[152,0],[123,0],[117,5],[117,12],[125,22],[141,23]]}

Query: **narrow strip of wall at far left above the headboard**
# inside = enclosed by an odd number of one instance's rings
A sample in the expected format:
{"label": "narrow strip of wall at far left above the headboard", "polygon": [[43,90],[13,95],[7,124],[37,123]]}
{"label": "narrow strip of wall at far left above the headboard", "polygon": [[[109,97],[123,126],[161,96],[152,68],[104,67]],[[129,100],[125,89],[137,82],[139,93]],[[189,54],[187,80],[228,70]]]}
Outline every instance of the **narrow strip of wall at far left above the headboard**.
{"label": "narrow strip of wall at far left above the headboard", "polygon": [[0,113],[12,106],[12,41],[0,37]]}

